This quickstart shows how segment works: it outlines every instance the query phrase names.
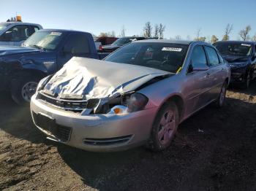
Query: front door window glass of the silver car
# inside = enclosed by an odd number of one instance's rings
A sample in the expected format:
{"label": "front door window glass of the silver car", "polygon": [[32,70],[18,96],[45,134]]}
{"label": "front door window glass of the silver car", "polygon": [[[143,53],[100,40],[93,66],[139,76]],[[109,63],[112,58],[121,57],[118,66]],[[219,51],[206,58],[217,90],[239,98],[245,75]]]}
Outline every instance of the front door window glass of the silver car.
{"label": "front door window glass of the silver car", "polygon": [[200,68],[207,65],[206,53],[203,50],[203,46],[197,46],[192,51],[192,66],[193,68]]}

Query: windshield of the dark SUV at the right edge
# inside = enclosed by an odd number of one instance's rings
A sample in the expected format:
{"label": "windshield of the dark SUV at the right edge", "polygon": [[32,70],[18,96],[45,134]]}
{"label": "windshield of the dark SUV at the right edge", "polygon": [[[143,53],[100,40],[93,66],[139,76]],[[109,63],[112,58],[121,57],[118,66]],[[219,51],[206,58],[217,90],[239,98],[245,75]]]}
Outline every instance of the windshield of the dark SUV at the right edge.
{"label": "windshield of the dark SUV at the right edge", "polygon": [[215,47],[222,55],[248,56],[252,51],[252,45],[246,43],[217,43]]}

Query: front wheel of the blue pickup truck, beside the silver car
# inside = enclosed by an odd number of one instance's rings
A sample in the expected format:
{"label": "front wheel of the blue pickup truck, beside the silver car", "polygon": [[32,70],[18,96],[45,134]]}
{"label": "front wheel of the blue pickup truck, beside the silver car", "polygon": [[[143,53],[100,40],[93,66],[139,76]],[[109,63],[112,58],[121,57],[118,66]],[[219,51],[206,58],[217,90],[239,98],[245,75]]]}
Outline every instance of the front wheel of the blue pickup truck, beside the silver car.
{"label": "front wheel of the blue pickup truck, beside the silver car", "polygon": [[29,104],[31,96],[36,92],[39,80],[39,77],[34,77],[31,74],[17,74],[11,82],[13,101],[19,105]]}

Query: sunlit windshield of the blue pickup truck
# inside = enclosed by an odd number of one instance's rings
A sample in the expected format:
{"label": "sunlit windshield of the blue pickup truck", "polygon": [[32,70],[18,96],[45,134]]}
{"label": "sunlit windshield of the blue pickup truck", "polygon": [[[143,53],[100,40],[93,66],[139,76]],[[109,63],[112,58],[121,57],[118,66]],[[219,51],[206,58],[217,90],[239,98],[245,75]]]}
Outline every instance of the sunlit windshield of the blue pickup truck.
{"label": "sunlit windshield of the blue pickup truck", "polygon": [[62,36],[63,34],[59,31],[37,31],[23,43],[23,46],[55,50],[61,42]]}

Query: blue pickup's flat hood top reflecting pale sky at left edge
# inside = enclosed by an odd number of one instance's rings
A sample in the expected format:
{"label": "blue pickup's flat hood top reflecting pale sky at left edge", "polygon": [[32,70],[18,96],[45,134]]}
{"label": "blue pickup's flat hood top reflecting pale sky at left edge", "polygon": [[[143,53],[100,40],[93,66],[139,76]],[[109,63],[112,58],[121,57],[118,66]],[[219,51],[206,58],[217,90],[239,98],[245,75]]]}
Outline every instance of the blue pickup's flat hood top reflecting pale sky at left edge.
{"label": "blue pickup's flat hood top reflecting pale sky at left edge", "polygon": [[0,55],[13,55],[26,52],[39,52],[40,50],[30,47],[0,46]]}

